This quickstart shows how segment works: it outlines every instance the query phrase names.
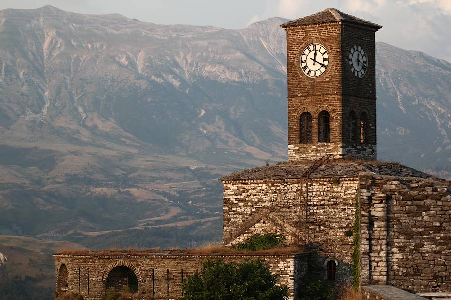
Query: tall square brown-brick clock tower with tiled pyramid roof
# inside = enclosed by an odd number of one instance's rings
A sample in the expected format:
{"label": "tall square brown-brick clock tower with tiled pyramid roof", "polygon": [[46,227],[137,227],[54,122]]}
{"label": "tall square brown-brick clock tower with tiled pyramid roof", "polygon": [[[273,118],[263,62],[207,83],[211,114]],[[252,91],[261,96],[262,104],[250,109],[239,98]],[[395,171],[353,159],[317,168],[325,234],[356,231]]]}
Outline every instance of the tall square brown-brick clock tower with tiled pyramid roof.
{"label": "tall square brown-brick clock tower with tiled pyramid roof", "polygon": [[382,26],[336,9],[286,30],[288,156],[306,162],[376,158],[375,32]]}

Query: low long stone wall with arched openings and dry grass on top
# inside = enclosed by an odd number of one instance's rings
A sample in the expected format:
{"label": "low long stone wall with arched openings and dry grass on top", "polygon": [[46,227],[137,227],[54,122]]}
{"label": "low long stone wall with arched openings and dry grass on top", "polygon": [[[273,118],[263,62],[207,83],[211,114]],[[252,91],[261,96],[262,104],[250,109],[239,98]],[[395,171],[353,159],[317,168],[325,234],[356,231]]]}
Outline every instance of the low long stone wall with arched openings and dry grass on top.
{"label": "low long stone wall with arched openings and dry grass on top", "polygon": [[[264,259],[273,273],[280,275],[279,284],[288,286],[289,299],[294,299],[297,280],[307,270],[306,254],[280,255],[54,255],[56,278],[65,264],[68,270],[68,291],[80,293],[85,299],[105,296],[109,271],[115,266],[131,268],[138,278],[137,299],[179,299],[182,280],[200,272],[205,260],[243,262]],[[182,277],[183,272],[183,277]],[[57,287],[58,288],[58,287]]]}

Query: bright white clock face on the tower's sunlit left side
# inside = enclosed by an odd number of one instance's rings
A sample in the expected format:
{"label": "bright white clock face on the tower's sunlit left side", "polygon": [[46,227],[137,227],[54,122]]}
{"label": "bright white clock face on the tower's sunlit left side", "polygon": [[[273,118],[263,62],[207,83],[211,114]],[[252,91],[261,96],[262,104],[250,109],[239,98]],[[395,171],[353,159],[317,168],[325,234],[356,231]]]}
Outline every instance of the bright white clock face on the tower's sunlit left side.
{"label": "bright white clock face on the tower's sunlit left side", "polygon": [[329,55],[320,44],[310,44],[300,54],[300,68],[310,78],[323,74],[328,64]]}

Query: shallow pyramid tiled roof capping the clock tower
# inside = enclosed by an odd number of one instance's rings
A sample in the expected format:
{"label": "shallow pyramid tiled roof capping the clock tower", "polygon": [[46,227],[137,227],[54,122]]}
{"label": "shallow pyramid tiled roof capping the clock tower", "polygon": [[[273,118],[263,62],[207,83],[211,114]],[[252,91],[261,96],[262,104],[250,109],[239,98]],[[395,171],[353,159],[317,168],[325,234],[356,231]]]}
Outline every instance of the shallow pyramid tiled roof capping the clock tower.
{"label": "shallow pyramid tiled roof capping the clock tower", "polygon": [[280,25],[280,27],[287,28],[287,27],[292,27],[292,26],[313,25],[313,24],[331,23],[331,22],[346,22],[346,23],[359,24],[359,25],[371,27],[375,30],[382,28],[381,25],[357,18],[352,15],[345,14],[345,13],[340,12],[339,10],[333,9],[333,8],[325,9],[324,11],[318,12],[316,14],[313,14],[313,15],[310,15],[310,16],[307,16],[304,18],[288,21],[288,22]]}

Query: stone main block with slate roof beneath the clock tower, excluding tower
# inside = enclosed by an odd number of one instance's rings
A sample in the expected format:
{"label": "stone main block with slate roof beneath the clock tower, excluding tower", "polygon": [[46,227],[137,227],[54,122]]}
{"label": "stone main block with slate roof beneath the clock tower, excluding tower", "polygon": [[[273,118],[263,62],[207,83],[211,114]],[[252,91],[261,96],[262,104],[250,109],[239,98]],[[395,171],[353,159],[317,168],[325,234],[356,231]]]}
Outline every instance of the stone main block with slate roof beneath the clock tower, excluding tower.
{"label": "stone main block with slate roof beneath the clock tower, excluding tower", "polygon": [[295,179],[304,170],[270,166],[222,178],[224,244],[283,234],[287,246],[310,247],[309,273],[325,278],[333,259],[336,281],[351,280],[357,203],[361,284],[451,291],[449,181],[392,163],[325,165]]}

